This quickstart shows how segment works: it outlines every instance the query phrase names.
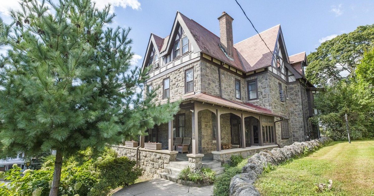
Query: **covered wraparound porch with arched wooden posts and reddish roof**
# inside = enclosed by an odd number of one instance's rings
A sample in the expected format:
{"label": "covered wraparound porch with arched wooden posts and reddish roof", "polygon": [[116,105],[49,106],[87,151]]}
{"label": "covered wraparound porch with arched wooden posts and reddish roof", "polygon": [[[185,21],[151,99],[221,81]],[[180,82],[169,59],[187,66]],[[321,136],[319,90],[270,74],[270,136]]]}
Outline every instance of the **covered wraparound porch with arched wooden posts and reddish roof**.
{"label": "covered wraparound porch with arched wooden posts and reddish roof", "polygon": [[[141,145],[159,142],[163,150],[174,151],[176,138],[183,138],[190,144],[186,155],[177,155],[177,161],[179,157],[198,163],[206,154],[205,160],[227,162],[234,154],[249,156],[277,147],[274,117],[280,116],[256,106],[194,94],[184,97],[174,120],[149,130]],[[200,168],[198,164],[193,167]]]}

